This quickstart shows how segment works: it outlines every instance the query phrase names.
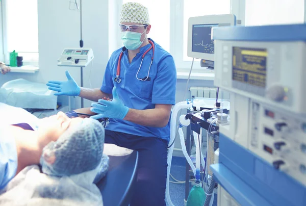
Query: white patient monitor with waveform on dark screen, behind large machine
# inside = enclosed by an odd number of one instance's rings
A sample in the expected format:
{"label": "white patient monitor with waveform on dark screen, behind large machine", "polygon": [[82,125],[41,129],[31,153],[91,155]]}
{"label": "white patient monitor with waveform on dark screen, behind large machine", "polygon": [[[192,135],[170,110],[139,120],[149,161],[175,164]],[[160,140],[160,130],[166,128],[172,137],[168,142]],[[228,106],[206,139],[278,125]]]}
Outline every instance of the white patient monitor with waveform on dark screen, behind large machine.
{"label": "white patient monitor with waveform on dark screen, behind large machine", "polygon": [[212,28],[236,25],[233,14],[190,17],[188,19],[187,56],[201,59],[201,67],[214,69]]}

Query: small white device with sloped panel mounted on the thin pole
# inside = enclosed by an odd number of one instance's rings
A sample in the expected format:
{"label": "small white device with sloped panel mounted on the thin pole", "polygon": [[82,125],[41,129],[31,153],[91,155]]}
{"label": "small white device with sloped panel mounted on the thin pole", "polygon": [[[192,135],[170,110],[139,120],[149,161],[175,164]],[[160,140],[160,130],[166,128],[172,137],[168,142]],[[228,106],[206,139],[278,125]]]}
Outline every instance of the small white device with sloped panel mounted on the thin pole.
{"label": "small white device with sloped panel mounted on the thin pole", "polygon": [[58,66],[86,67],[92,60],[91,48],[65,48],[58,59]]}

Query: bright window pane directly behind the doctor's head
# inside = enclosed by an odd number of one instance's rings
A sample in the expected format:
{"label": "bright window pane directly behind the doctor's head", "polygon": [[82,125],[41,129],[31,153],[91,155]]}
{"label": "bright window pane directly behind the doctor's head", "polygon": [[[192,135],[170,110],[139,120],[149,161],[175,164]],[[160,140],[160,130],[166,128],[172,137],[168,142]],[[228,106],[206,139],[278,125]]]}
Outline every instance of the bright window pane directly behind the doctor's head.
{"label": "bright window pane directly behind the doctor's head", "polygon": [[[123,4],[131,2],[131,0],[123,0]],[[134,0],[142,4],[149,11],[149,18],[151,24],[151,30],[148,37],[152,38],[158,44],[160,44],[165,50],[169,51],[170,43],[170,1],[169,0],[155,0],[154,3],[147,0]],[[161,6],[163,5],[163,6]],[[118,26],[119,31],[119,26]]]}

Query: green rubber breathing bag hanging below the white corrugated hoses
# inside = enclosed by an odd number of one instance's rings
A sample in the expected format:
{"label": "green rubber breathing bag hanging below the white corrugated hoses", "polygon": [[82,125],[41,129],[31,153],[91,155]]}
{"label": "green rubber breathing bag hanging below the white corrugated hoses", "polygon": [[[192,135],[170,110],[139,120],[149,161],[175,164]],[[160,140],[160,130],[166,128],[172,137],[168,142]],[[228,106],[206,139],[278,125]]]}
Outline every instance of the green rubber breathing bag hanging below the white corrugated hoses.
{"label": "green rubber breathing bag hanging below the white corrugated hoses", "polygon": [[189,192],[186,206],[203,206],[205,198],[206,195],[201,188],[201,183],[195,183]]}

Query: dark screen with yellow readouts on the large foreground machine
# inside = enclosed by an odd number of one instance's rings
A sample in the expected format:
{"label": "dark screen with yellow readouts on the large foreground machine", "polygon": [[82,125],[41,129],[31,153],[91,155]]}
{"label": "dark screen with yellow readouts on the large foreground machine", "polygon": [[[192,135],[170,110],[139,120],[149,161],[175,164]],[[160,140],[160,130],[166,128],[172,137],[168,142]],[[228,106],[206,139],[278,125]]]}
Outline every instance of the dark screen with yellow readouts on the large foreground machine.
{"label": "dark screen with yellow readouts on the large foreground machine", "polygon": [[265,88],[267,57],[267,49],[233,47],[232,79]]}

